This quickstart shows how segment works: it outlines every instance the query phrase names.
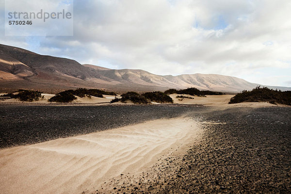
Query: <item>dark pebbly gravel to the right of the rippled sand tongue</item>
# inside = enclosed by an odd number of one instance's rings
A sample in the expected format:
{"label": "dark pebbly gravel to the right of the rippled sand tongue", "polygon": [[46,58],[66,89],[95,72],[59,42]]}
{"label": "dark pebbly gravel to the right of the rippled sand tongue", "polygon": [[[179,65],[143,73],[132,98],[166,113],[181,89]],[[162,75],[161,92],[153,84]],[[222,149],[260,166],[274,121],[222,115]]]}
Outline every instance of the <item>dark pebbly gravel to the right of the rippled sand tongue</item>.
{"label": "dark pebbly gravel to the right of the rippled sand tongue", "polygon": [[[291,193],[291,108],[232,108],[192,116],[205,133],[184,156],[102,185],[105,193]],[[103,193],[97,191],[95,193]]]}

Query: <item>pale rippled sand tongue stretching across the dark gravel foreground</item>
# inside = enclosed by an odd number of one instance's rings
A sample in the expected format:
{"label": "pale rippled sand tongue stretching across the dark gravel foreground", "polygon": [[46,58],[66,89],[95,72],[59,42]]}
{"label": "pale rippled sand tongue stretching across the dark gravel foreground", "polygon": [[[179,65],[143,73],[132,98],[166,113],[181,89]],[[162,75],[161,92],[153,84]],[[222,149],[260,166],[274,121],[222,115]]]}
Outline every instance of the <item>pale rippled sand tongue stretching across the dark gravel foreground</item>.
{"label": "pale rippled sand tongue stretching across the dark gravel foreground", "polygon": [[201,134],[189,118],[148,121],[30,146],[0,150],[0,191],[63,194],[96,191],[121,174],[140,173]]}

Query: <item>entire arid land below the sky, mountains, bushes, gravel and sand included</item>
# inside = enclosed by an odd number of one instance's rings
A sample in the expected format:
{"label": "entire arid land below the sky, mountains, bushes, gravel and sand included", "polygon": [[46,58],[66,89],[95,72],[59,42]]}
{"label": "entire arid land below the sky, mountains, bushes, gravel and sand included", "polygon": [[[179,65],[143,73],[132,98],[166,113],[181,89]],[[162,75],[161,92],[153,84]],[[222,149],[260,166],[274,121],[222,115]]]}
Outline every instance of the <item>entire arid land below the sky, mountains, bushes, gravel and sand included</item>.
{"label": "entire arid land below the sky, mountains, bushes, gravel and sand included", "polygon": [[288,87],[0,52],[2,193],[291,192]]}

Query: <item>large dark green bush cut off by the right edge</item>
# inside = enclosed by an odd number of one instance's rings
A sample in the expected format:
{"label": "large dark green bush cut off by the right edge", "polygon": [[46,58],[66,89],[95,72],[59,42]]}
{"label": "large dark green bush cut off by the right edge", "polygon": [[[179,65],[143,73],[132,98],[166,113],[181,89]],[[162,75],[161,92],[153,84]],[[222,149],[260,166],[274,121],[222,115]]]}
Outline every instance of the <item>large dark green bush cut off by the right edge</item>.
{"label": "large dark green bush cut off by the right edge", "polygon": [[252,91],[242,91],[230,98],[228,104],[240,102],[270,102],[272,104],[291,105],[291,91],[281,92],[267,87],[257,86]]}

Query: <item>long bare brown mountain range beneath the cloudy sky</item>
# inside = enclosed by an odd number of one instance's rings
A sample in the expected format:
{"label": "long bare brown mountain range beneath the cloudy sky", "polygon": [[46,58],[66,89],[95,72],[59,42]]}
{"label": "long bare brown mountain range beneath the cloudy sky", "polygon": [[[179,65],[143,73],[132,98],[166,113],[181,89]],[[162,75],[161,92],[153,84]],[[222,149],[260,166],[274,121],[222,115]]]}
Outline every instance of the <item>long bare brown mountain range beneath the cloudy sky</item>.
{"label": "long bare brown mountain range beneath the cloudy sky", "polygon": [[[109,69],[81,65],[77,61],[40,55],[29,50],[0,44],[0,91],[37,89],[57,92],[79,87],[99,88],[117,92],[155,91],[169,88],[196,87],[202,90],[240,92],[251,90],[257,83],[216,74],[161,76],[138,69]],[[268,86],[281,90],[288,87]]]}

